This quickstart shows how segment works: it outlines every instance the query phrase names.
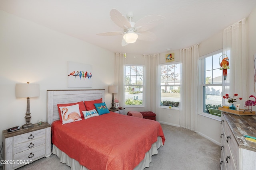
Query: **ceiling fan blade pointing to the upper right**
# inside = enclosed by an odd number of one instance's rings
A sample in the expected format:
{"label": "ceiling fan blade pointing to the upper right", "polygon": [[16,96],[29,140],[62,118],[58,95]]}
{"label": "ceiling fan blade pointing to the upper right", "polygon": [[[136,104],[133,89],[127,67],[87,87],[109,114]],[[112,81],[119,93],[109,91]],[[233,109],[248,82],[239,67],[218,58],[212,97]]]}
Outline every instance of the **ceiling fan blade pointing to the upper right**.
{"label": "ceiling fan blade pointing to the upper right", "polygon": [[162,21],[164,21],[164,17],[160,15],[145,16],[135,23],[134,28],[137,31],[147,31],[160,24]]}

